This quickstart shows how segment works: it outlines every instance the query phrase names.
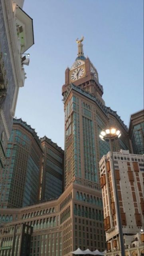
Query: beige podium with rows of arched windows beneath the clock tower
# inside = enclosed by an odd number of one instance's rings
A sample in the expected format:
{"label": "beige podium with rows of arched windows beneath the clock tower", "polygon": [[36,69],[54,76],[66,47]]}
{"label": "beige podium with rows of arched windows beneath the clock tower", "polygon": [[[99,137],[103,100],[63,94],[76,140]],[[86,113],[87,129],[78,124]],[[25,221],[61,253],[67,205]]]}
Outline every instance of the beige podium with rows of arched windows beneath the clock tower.
{"label": "beige podium with rows of arched windows beneath the clock tower", "polygon": [[[81,193],[79,196],[78,191]],[[81,200],[84,195],[89,196],[89,202]],[[89,184],[83,186],[71,183],[57,200],[20,209],[2,209],[0,214],[2,218],[8,216],[8,221],[11,220],[8,224],[1,222],[5,229],[23,223],[33,227],[30,247],[32,256],[39,253],[43,256],[72,256],[71,252],[79,246],[91,250],[99,248],[101,251],[105,248],[99,186],[95,188],[92,185],[89,187]],[[6,236],[2,228],[0,239]]]}

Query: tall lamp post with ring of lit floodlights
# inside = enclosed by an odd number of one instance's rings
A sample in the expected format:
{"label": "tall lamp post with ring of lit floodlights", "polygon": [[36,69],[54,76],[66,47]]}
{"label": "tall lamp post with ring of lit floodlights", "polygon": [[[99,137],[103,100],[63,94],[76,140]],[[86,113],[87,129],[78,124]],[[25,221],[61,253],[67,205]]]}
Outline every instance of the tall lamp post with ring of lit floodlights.
{"label": "tall lamp post with ring of lit floodlights", "polygon": [[99,135],[101,140],[110,142],[110,151],[111,151],[111,155],[112,155],[112,168],[113,168],[113,175],[114,175],[114,189],[115,189],[115,195],[116,195],[116,210],[117,210],[117,214],[118,214],[118,229],[119,229],[121,256],[125,256],[124,238],[123,238],[123,232],[122,232],[122,222],[121,222],[121,216],[120,216],[120,206],[119,206],[119,199],[118,199],[118,190],[117,190],[117,186],[116,186],[116,176],[115,176],[115,170],[114,170],[114,157],[113,157],[113,150],[112,150],[112,141],[120,138],[120,136],[121,136],[121,133],[116,128],[105,129]]}

